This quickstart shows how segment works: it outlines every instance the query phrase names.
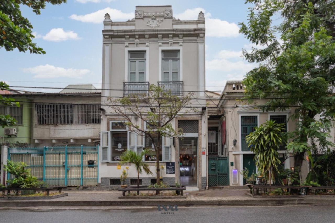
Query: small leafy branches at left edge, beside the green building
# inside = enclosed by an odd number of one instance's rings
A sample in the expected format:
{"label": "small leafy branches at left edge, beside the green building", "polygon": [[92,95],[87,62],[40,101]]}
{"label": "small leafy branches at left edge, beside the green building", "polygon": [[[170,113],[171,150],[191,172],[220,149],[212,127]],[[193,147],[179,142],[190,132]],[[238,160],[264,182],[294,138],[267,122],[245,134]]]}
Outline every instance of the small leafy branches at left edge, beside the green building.
{"label": "small leafy branches at left edge, beside the green building", "polygon": [[[5,82],[0,81],[0,90],[10,90],[10,89]],[[3,95],[0,95],[0,106],[1,105],[20,107],[19,103],[15,102],[13,98],[4,97]],[[2,128],[6,126],[16,125],[16,120],[10,115],[0,114],[0,125]]]}

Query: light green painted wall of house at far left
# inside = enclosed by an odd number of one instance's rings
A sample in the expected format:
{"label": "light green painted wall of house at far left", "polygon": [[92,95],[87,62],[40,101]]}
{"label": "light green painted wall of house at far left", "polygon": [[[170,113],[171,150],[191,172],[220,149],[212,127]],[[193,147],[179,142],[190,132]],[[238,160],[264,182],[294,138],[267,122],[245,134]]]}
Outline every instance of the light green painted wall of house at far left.
{"label": "light green painted wall of house at far left", "polygon": [[[19,98],[15,97],[17,101],[29,101],[26,98]],[[9,143],[31,143],[31,107],[32,103],[25,103],[20,102],[20,106],[22,106],[22,125],[15,125],[15,126],[9,126],[5,128],[16,128],[17,136],[7,136],[5,135],[4,128],[1,128],[0,126],[0,137],[1,142],[9,142]]]}

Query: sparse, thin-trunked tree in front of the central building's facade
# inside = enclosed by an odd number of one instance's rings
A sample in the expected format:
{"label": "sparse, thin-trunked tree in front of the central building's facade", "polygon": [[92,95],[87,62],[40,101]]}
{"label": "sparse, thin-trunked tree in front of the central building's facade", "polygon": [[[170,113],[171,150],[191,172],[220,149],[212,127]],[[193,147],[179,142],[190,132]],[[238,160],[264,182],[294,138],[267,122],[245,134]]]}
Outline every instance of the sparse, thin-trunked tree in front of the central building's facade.
{"label": "sparse, thin-trunked tree in front of the central building's facade", "polygon": [[[126,121],[126,125],[138,135],[150,139],[156,159],[156,182],[160,182],[159,154],[162,151],[162,137],[180,137],[182,129],[174,129],[171,121],[194,110],[190,107],[192,93],[177,96],[171,91],[154,84],[149,86],[148,94],[131,94],[121,99],[109,98],[114,113]],[[132,117],[136,117],[146,125],[142,128]],[[150,152],[151,153],[151,152]]]}

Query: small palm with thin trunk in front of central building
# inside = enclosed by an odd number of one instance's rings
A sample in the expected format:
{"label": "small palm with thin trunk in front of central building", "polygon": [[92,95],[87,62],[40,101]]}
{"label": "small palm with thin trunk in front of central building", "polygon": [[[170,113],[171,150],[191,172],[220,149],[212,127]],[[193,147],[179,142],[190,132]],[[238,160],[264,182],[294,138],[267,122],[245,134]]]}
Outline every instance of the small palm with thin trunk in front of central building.
{"label": "small palm with thin trunk in front of central building", "polygon": [[[145,172],[145,174],[153,175],[151,170],[149,169],[149,164],[143,161],[143,157],[145,154],[149,153],[150,149],[144,149],[140,154],[137,154],[136,152],[132,150],[128,150],[120,156],[121,161],[119,163],[121,165],[126,163],[133,163],[135,165],[136,171],[137,171],[137,188],[140,188],[140,174],[142,174],[142,170]],[[139,195],[140,192],[137,191],[137,195]]]}

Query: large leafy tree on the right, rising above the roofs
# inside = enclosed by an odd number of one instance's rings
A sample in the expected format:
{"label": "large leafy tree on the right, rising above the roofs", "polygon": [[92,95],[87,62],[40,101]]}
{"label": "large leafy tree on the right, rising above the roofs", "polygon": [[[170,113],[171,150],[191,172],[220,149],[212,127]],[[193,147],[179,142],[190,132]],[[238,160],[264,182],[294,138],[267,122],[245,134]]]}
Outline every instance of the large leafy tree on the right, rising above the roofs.
{"label": "large leafy tree on the right, rising above the roofs", "polygon": [[[309,139],[320,147],[327,141],[334,119],[335,97],[335,1],[246,0],[248,23],[240,33],[262,47],[243,50],[250,63],[259,66],[244,79],[246,98],[271,98],[263,111],[294,108],[297,122],[287,145],[294,153],[295,169],[301,170]],[[278,17],[280,24],[278,23]],[[274,21],[276,20],[276,21]],[[320,119],[316,115],[320,114]]]}

